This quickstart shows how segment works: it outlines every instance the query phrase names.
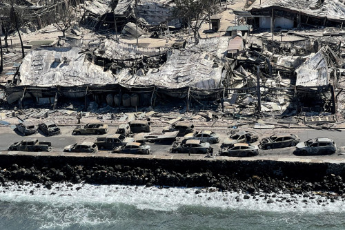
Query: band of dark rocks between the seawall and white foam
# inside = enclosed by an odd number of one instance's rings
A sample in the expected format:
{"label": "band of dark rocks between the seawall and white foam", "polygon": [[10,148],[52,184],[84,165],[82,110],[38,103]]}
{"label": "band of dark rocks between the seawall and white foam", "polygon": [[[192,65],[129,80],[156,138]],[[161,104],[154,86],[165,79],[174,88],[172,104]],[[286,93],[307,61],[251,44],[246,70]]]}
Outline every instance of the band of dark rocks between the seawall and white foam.
{"label": "band of dark rocks between the seawall and white foam", "polygon": [[[345,183],[339,175],[326,175],[318,180],[299,180],[287,177],[239,175],[238,173],[213,173],[206,169],[198,173],[176,171],[162,168],[143,169],[127,165],[115,166],[70,166],[65,164],[59,169],[48,167],[19,166],[12,164],[8,169],[0,169],[0,182],[2,186],[9,186],[9,182],[23,184],[32,182],[42,184],[46,189],[52,189],[55,182],[71,184],[121,184],[144,185],[146,187],[184,186],[184,187],[214,187],[207,191],[223,191],[243,193],[237,201],[255,198],[262,194],[290,194],[303,195],[306,199],[313,199],[311,192],[334,200],[345,201]],[[203,192],[201,189],[195,193]],[[344,194],[343,194],[344,193]],[[267,202],[275,202],[279,195],[265,195]],[[279,199],[278,199],[279,200]],[[286,199],[285,199],[286,200]],[[286,200],[286,202],[290,202]]]}

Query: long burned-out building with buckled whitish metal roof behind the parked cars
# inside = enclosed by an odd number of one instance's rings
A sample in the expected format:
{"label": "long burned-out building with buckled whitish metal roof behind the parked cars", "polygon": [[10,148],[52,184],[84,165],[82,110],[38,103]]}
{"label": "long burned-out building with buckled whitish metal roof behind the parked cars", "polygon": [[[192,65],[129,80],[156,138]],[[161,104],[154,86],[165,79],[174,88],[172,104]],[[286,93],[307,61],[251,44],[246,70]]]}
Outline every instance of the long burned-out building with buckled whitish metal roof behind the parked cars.
{"label": "long burned-out building with buckled whitish metal roof behind the parked cars", "polygon": [[63,98],[80,98],[86,104],[154,106],[224,95],[225,61],[215,52],[138,48],[111,39],[98,44],[88,52],[65,47],[30,51],[6,86],[8,103],[55,105]]}

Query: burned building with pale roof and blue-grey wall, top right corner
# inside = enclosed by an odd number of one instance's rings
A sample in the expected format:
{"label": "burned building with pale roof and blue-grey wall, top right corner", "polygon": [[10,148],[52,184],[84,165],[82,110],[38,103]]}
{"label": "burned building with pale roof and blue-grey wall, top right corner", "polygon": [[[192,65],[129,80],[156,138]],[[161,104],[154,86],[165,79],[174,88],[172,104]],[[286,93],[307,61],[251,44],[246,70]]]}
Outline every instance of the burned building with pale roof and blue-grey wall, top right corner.
{"label": "burned building with pale roof and blue-grey wall, top right corner", "polygon": [[262,0],[248,8],[248,23],[257,28],[297,28],[327,26],[342,28],[345,6],[341,0]]}

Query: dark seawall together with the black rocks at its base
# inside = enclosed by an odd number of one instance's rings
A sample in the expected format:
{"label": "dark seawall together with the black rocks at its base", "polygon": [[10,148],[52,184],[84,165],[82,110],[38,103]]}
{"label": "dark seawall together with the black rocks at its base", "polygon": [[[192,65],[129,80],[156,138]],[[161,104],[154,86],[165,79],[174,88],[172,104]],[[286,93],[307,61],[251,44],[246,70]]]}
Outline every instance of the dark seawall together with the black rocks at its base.
{"label": "dark seawall together with the black rocks at its base", "polygon": [[[190,157],[192,158],[192,157]],[[214,186],[227,191],[344,193],[344,162],[0,154],[0,182]]]}

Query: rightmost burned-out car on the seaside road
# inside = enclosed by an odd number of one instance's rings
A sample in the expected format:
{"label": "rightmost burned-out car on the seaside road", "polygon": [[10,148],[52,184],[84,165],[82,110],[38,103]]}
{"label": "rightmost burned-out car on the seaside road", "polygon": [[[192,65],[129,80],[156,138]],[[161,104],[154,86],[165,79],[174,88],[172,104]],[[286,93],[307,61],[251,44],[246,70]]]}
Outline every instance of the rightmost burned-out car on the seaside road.
{"label": "rightmost burned-out car on the seaside road", "polygon": [[337,145],[330,138],[315,138],[298,143],[296,151],[302,155],[333,154],[337,151]]}

